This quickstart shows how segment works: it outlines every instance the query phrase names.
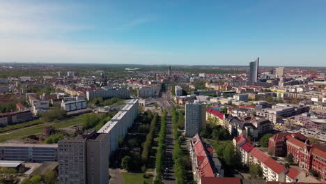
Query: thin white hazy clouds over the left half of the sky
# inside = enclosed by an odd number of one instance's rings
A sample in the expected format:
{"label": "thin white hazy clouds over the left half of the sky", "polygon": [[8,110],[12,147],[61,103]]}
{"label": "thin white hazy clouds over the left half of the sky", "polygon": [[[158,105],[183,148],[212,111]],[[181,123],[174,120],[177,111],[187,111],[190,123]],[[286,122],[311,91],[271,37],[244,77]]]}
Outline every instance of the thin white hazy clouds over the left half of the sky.
{"label": "thin white hazy clouds over the left half of the sky", "polygon": [[[73,43],[58,39],[96,28],[91,24],[67,21],[81,15],[82,5],[49,2],[0,0],[0,62],[129,63],[169,55],[134,45]],[[153,19],[136,19],[121,27],[128,29],[151,21]]]}

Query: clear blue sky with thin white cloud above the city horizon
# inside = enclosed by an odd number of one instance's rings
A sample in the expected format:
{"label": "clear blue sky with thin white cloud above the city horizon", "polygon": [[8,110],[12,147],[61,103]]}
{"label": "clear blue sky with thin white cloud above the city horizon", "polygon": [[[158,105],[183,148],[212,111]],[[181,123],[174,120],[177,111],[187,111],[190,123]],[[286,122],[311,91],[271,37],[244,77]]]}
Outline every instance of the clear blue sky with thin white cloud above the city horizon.
{"label": "clear blue sky with thin white cloud above the city horizon", "polygon": [[0,62],[326,66],[325,0],[0,0]]}

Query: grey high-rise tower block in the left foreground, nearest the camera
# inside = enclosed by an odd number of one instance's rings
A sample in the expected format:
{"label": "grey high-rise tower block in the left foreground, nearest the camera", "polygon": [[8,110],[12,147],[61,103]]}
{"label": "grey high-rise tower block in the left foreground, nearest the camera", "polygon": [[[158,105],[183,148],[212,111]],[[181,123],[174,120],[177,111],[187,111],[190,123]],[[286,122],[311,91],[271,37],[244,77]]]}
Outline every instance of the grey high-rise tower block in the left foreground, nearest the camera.
{"label": "grey high-rise tower block in the left foreground, nearest the camera", "polygon": [[59,183],[109,183],[107,136],[91,131],[59,141]]}

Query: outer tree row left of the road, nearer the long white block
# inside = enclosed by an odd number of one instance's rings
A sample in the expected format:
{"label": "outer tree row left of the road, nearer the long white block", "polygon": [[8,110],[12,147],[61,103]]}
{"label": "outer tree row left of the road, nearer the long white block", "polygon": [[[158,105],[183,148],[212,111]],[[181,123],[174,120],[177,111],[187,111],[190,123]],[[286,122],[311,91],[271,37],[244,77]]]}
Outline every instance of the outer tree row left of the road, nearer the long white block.
{"label": "outer tree row left of the road, nearer the long white block", "polygon": [[143,152],[141,153],[141,161],[144,164],[148,164],[150,158],[150,150],[152,148],[153,139],[155,135],[155,127],[157,124],[158,115],[155,113],[153,120],[150,122],[150,131],[146,136],[146,141],[143,143]]}

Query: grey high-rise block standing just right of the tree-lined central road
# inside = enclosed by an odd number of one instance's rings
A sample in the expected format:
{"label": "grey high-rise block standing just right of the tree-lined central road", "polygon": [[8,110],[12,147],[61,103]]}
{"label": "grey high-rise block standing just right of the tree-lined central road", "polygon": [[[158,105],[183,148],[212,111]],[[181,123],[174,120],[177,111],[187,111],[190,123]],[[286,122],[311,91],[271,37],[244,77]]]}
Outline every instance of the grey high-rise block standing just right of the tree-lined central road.
{"label": "grey high-rise block standing just right of the tree-lined central road", "polygon": [[206,128],[206,105],[194,100],[185,105],[185,135],[193,137]]}

